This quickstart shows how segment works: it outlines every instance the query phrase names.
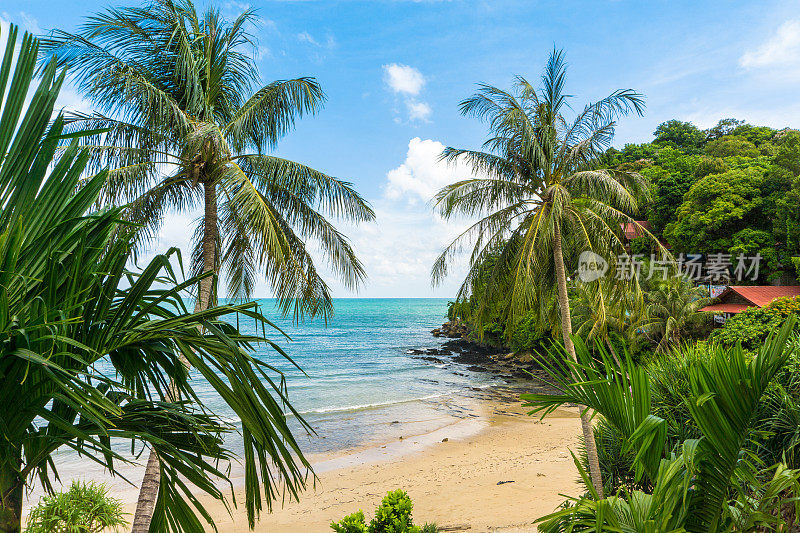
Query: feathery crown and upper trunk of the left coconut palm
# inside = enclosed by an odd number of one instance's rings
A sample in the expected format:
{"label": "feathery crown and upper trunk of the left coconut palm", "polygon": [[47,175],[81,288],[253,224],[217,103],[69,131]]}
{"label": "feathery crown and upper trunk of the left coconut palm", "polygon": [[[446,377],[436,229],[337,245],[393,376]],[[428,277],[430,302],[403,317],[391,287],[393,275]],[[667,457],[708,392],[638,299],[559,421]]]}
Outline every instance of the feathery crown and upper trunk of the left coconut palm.
{"label": "feathery crown and upper trunk of the left coconut palm", "polygon": [[[67,119],[101,130],[86,143],[89,168],[111,169],[102,202],[127,204],[142,244],[170,210],[202,207],[193,272],[221,272],[229,297],[249,296],[265,275],[283,311],[327,316],[330,291],[312,251],[351,289],[364,270],[326,215],[374,214],[349,183],[268,153],[324,94],[307,77],[261,84],[249,55],[255,22],[251,10],[228,22],[213,8],[199,14],[191,0],[152,0],[98,13],[77,33],[54,30],[42,47],[97,110]],[[198,310],[213,305],[213,280]]]}

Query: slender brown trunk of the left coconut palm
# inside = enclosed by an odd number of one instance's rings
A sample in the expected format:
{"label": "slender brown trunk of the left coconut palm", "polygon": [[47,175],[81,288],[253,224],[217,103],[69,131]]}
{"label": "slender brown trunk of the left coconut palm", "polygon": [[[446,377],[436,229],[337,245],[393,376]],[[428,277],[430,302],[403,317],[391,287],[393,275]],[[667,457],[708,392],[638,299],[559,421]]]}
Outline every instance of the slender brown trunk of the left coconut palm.
{"label": "slender brown trunk of the left coconut palm", "polygon": [[[204,182],[205,213],[203,218],[203,273],[213,271],[217,267],[217,189],[213,182]],[[197,291],[197,302],[194,312],[198,313],[208,309],[214,303],[214,278],[209,276],[200,281]],[[181,362],[188,366],[188,362],[181,356]],[[170,394],[177,396],[170,383]],[[177,399],[177,398],[174,398]],[[158,455],[150,450],[147,458],[147,468],[139,488],[139,500],[136,503],[136,514],[133,517],[131,533],[148,533],[153,511],[158,499],[158,490],[161,486],[161,466]],[[0,533],[4,533],[0,530]]]}

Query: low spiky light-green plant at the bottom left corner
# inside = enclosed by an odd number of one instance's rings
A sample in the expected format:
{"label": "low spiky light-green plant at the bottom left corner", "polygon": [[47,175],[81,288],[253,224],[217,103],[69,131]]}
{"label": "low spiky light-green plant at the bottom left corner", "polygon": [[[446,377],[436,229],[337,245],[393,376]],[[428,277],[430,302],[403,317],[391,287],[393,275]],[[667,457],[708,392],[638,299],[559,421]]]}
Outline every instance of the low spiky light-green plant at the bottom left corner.
{"label": "low spiky light-green plant at the bottom left corner", "polygon": [[45,496],[31,509],[25,533],[101,533],[126,525],[122,503],[104,485],[73,481],[67,492]]}

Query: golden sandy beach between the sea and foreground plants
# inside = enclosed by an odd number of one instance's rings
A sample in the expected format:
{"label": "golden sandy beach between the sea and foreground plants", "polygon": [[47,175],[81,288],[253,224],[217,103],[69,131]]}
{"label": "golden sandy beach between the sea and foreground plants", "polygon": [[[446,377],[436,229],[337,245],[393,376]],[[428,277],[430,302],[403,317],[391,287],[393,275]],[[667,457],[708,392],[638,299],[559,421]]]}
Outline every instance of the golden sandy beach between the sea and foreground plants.
{"label": "golden sandy beach between the sea and foreground plants", "polygon": [[[470,533],[536,531],[533,522],[554,511],[561,494],[580,493],[569,454],[578,449],[580,420],[574,408],[542,422],[524,412],[516,395],[487,398],[476,415],[433,433],[316,458],[316,486],[300,502],[279,502],[255,531],[331,531],[332,520],[358,509],[369,520],[386,492],[398,488],[411,496],[419,525],[436,522],[445,531]],[[219,504],[209,508],[221,532],[248,531],[242,505],[233,517]]]}

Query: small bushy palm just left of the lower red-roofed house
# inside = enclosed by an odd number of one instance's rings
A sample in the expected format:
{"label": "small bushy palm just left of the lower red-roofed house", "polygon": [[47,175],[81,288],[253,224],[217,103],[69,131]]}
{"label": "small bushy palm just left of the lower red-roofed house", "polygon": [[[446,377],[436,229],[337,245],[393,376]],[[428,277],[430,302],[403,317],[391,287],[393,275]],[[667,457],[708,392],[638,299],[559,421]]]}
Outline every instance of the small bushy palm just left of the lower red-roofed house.
{"label": "small bushy palm just left of the lower red-roofed house", "polygon": [[[646,333],[658,339],[657,352],[680,346],[686,329],[693,323],[707,319],[700,311],[708,304],[702,288],[696,287],[686,276],[670,276],[657,280],[647,291]],[[654,340],[655,342],[655,340]]]}

